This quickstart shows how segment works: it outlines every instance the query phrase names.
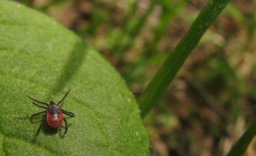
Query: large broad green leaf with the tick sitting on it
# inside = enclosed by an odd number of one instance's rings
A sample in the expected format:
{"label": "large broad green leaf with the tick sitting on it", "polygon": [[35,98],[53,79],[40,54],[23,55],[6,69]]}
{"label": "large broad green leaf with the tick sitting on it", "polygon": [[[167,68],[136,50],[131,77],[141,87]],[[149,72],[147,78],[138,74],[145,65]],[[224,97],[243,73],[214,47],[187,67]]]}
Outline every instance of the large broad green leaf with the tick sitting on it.
{"label": "large broad green leaf with the tick sitting on it", "polygon": [[[69,123],[52,129],[25,95],[58,102]],[[148,155],[148,136],[123,79],[74,33],[19,3],[0,1],[0,155]]]}

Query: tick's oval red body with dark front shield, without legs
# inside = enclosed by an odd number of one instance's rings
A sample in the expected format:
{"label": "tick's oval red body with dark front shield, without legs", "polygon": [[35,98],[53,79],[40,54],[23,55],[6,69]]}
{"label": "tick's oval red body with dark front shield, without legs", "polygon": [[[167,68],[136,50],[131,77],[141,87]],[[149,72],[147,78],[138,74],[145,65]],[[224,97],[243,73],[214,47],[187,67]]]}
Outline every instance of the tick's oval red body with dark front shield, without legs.
{"label": "tick's oval red body with dark front shield, without legs", "polygon": [[51,104],[46,111],[46,122],[49,127],[59,128],[62,125],[63,116],[60,108]]}

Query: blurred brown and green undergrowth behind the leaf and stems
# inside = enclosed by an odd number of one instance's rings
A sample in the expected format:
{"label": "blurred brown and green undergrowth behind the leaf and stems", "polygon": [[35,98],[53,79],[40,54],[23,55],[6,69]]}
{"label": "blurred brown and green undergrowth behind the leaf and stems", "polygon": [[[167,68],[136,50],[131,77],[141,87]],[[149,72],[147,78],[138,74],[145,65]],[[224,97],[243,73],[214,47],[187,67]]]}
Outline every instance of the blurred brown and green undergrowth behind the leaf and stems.
{"label": "blurred brown and green undergrowth behind the leaf and stems", "polygon": [[[16,0],[85,39],[136,98],[208,0]],[[225,155],[256,115],[256,1],[232,0],[144,119],[150,156]],[[63,43],[65,44],[65,43]],[[245,156],[256,156],[256,137]]]}

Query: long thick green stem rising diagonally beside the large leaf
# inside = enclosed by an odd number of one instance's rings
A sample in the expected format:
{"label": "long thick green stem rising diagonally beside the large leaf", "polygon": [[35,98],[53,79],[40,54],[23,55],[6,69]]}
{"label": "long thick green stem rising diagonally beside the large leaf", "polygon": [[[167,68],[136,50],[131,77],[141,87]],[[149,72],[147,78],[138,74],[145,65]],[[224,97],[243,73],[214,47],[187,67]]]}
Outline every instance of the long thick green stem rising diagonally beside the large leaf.
{"label": "long thick green stem rising diagonally beside the large leaf", "polygon": [[138,99],[141,117],[156,105],[190,52],[230,0],[210,0]]}

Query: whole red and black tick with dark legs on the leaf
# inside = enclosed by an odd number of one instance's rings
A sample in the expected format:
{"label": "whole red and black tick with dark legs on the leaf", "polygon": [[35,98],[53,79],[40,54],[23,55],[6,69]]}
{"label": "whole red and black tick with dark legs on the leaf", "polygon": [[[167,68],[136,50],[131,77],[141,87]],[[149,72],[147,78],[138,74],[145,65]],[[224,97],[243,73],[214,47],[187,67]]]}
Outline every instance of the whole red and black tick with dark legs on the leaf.
{"label": "whole red and black tick with dark legs on the leaf", "polygon": [[[41,111],[39,113],[36,113],[36,114],[33,114],[31,117],[35,117],[39,114],[42,114],[42,113],[45,113],[45,117],[42,118],[42,121],[40,123],[40,126],[38,128],[38,131],[37,131],[37,136],[42,128],[42,125],[44,123],[44,121],[46,120],[46,123],[48,124],[49,127],[52,127],[52,128],[59,128],[61,125],[62,125],[62,122],[64,120],[65,122],[65,125],[66,125],[66,129],[65,129],[65,132],[64,132],[64,135],[67,133],[68,131],[68,122],[67,120],[63,117],[63,114],[66,114],[68,115],[69,117],[75,117],[74,113],[72,112],[69,112],[69,111],[66,111],[66,110],[63,110],[63,109],[60,109],[59,107],[59,104],[61,102],[64,101],[64,99],[68,96],[69,94],[69,91],[71,90],[71,88],[69,88],[68,92],[65,94],[65,96],[56,104],[54,101],[50,101],[49,104],[46,103],[46,102],[41,102],[39,100],[36,100],[28,95],[26,95],[27,97],[29,97],[31,100],[33,100],[33,104],[36,105],[37,107],[41,107],[41,108],[45,108],[46,110],[45,111]],[[39,104],[37,103],[40,103],[40,104],[43,104],[43,105],[46,105],[47,107],[45,106],[40,106]]]}

